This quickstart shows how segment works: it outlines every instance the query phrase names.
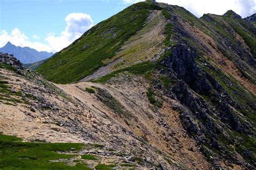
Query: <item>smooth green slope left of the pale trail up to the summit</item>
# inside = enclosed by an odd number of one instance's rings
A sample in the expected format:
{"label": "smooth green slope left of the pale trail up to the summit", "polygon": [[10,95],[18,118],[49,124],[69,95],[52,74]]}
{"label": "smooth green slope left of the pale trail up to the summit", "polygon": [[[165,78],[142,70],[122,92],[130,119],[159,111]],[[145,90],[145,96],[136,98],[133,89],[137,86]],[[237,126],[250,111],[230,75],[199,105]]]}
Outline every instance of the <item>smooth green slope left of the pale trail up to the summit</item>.
{"label": "smooth green slope left of the pale trail up to the summit", "polygon": [[[150,10],[161,8],[151,3],[137,3],[104,20],[85,32],[37,69],[55,83],[71,83],[92,74],[112,58],[123,42],[142,29]],[[68,71],[67,71],[68,70]]]}

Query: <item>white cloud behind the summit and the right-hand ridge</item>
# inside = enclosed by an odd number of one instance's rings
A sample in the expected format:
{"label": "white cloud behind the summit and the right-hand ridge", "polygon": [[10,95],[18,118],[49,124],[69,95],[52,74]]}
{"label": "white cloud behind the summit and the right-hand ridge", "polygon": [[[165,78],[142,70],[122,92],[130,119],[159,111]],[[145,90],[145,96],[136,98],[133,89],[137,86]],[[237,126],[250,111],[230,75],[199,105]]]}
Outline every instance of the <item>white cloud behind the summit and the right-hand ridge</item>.
{"label": "white cloud behind the summit and the right-hand ridge", "polygon": [[[137,3],[144,0],[123,0],[124,3]],[[256,12],[256,0],[157,0],[157,2],[183,6],[197,17],[204,13],[223,15],[227,10],[233,10],[240,16],[247,17]]]}

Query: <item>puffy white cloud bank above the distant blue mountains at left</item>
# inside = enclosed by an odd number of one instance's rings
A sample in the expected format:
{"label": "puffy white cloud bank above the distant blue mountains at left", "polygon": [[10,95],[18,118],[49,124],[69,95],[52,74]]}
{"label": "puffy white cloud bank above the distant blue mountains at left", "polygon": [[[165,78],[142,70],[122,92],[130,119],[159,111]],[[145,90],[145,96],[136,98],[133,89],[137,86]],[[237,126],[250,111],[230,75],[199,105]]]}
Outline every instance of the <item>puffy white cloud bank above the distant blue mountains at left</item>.
{"label": "puffy white cloud bank above the distant blue mountains at left", "polygon": [[[44,38],[47,42],[46,45],[41,42],[30,41],[30,39],[18,28],[12,30],[11,33],[1,30],[0,47],[10,41],[16,46],[30,47],[37,51],[57,52],[70,45],[93,26],[93,20],[90,15],[87,15],[86,13],[70,13],[66,16],[65,21],[67,26],[65,30],[60,33],[60,36],[56,36],[54,33],[48,33],[46,35]],[[39,39],[36,35],[33,35],[32,38]]]}

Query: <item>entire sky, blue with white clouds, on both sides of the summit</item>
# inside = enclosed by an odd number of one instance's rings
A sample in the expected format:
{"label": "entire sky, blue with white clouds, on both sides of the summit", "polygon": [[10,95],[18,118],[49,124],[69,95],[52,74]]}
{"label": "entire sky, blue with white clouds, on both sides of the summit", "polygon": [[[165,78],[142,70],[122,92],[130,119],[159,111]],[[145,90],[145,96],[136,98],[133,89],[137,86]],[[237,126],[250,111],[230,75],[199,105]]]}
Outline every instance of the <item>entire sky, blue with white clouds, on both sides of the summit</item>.
{"label": "entire sky, blue with white clouds, on both sides of the summit", "polygon": [[[143,0],[0,0],[0,47],[6,42],[56,52],[91,26]],[[184,6],[197,17],[234,10],[255,13],[256,0],[159,0]]]}

